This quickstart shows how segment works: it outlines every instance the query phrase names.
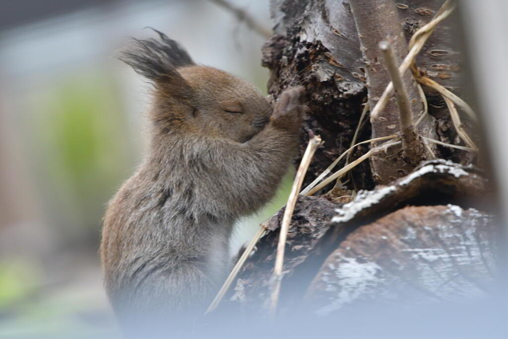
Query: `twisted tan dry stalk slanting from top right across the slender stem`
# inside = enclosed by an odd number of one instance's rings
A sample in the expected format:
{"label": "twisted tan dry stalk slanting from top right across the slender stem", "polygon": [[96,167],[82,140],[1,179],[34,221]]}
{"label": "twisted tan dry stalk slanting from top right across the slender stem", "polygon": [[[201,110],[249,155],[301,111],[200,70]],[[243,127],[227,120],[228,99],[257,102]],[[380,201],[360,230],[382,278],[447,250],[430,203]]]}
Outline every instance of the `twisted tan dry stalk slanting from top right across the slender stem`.
{"label": "twisted tan dry stalk slanting from top right across the slender stem", "polygon": [[[446,17],[448,17],[450,13],[452,13],[453,9],[454,6],[452,5],[451,1],[447,0],[441,6],[439,11],[434,16],[434,18],[429,23],[418,29],[417,32],[415,32],[415,34],[411,37],[411,40],[409,42],[410,48],[409,53],[407,53],[406,57],[402,61],[402,64],[400,64],[399,66],[399,72],[401,75],[403,75],[405,71],[407,71],[409,66],[414,62],[415,57],[422,50],[423,45],[434,31],[436,25],[442,20],[444,20]],[[379,98],[377,104],[371,109],[370,111],[371,119],[379,118],[379,113],[385,108],[386,104],[390,100],[392,92],[393,92],[393,83],[390,82],[386,87],[385,91],[383,92],[383,95]]]}

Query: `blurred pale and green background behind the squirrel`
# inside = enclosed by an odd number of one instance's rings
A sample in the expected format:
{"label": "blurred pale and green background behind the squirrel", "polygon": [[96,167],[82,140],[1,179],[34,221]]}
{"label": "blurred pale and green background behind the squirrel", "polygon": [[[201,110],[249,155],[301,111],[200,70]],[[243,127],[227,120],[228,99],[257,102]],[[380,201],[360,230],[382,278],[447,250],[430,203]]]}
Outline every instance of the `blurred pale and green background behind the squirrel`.
{"label": "blurred pale and green background behind the squirrel", "polygon": [[[268,0],[230,2],[270,27]],[[129,37],[154,36],[151,26],[197,63],[265,91],[265,39],[207,0],[2,5],[0,337],[117,337],[97,255],[101,218],[142,157],[149,85],[112,55]],[[283,201],[244,223],[235,246]]]}

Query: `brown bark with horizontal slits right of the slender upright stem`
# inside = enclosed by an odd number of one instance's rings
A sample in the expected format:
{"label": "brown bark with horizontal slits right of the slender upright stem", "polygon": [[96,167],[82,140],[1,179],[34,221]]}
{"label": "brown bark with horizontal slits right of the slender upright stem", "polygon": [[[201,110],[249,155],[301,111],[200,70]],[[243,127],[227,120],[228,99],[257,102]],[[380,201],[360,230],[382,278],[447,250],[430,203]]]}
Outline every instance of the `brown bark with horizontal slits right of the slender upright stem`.
{"label": "brown bark with horizontal slits right of the slender upright stem", "polygon": [[[407,41],[416,30],[431,20],[443,3],[443,0],[413,0],[396,5]],[[462,41],[463,36],[460,32],[460,26],[457,11],[438,24],[434,33],[418,54],[417,65],[423,74],[452,90],[453,93],[462,97],[466,102],[471,102],[472,98],[467,96],[469,86],[465,81],[470,78],[470,75],[464,74],[464,66],[467,60],[464,56],[464,42]],[[437,122],[435,131],[438,139],[446,143],[463,145],[453,127],[450,113],[443,98],[436,91],[426,86],[423,86],[423,90],[427,98],[429,114]],[[475,141],[478,141],[478,128],[475,128],[472,121],[465,115],[462,116],[462,122],[467,133]],[[438,158],[449,159],[463,165],[477,162],[474,153],[440,145],[436,147]]]}

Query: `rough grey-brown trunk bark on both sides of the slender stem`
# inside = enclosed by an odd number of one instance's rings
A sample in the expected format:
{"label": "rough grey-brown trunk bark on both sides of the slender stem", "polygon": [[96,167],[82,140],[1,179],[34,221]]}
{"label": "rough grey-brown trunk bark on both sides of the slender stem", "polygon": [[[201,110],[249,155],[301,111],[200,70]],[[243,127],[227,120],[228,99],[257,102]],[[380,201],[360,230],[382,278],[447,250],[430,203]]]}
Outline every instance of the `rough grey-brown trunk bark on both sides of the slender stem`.
{"label": "rough grey-brown trunk bark on both sides of the slender stem", "polygon": [[[406,41],[419,27],[432,19],[443,2],[444,0],[417,0],[408,4],[396,3],[399,26],[403,29]],[[290,85],[304,85],[307,93],[304,129],[313,130],[325,141],[310,166],[304,182],[306,186],[351,145],[362,111],[361,104],[367,101],[366,65],[348,1],[273,0],[271,15],[275,34],[263,49],[263,65],[271,71],[269,94],[275,99]],[[375,15],[377,13],[372,14],[372,17]],[[367,33],[366,36],[369,37],[370,34]],[[400,43],[407,45],[402,40]],[[460,95],[463,77],[459,47],[457,16],[452,13],[437,26],[417,57],[417,62],[422,72]],[[379,66],[384,67],[381,63]],[[388,83],[388,76],[386,72],[383,73],[384,81]],[[414,90],[412,87],[410,89]],[[429,113],[435,117],[438,126],[434,129],[432,121],[426,120],[420,124],[421,130],[430,127],[431,131],[426,132],[428,135],[437,134],[436,138],[443,142],[462,144],[442,98],[428,88],[423,89],[429,103]],[[371,96],[375,97],[376,95]],[[395,102],[392,101],[391,105],[396,109]],[[415,116],[418,116],[421,111],[420,99],[415,103],[414,111]],[[467,128],[467,118],[464,123]],[[384,124],[385,129],[393,125],[398,128],[398,123]],[[392,129],[388,130],[385,135],[393,134]],[[380,136],[381,131],[373,133],[370,124],[364,124],[359,140],[370,139],[373,134]],[[302,153],[307,140],[307,134],[303,133],[300,146]],[[359,146],[353,153],[354,158],[365,153],[368,148],[368,145]],[[474,160],[469,152],[442,146],[437,146],[436,156],[461,164],[471,164]],[[391,160],[397,159],[392,157]],[[395,177],[404,174],[407,174],[407,169],[401,170]],[[355,168],[350,179],[347,188],[355,190],[372,189],[375,183],[368,162]]]}

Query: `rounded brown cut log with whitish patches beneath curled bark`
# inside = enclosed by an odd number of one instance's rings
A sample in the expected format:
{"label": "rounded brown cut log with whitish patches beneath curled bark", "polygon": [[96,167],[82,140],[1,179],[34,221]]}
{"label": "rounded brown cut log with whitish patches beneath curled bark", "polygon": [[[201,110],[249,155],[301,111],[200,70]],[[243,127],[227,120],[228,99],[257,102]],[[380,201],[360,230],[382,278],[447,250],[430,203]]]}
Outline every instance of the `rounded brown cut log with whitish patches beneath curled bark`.
{"label": "rounded brown cut log with whitish patches beneath curled bark", "polygon": [[491,219],[456,205],[399,209],[349,234],[323,263],[307,301],[325,315],[362,303],[488,296],[496,274]]}

